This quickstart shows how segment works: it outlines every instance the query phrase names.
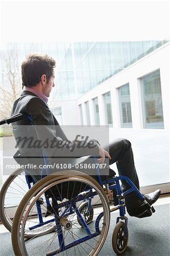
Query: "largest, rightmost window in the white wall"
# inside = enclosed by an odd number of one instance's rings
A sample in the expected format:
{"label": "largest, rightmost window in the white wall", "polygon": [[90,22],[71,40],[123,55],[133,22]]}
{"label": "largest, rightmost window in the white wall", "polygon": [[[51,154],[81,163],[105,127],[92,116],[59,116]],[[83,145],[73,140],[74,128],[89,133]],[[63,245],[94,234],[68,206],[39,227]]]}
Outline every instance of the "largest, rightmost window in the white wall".
{"label": "largest, rightmost window in the white wall", "polygon": [[144,128],[164,128],[160,71],[140,79]]}

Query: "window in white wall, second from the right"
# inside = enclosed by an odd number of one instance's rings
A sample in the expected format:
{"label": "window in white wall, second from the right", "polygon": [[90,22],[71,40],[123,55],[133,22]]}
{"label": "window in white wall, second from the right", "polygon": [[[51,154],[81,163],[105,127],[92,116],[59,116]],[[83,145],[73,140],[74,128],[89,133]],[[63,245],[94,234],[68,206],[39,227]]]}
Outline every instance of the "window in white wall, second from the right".
{"label": "window in white wall, second from the right", "polygon": [[132,127],[131,104],[129,85],[123,85],[119,90],[119,105],[121,115],[121,127]]}

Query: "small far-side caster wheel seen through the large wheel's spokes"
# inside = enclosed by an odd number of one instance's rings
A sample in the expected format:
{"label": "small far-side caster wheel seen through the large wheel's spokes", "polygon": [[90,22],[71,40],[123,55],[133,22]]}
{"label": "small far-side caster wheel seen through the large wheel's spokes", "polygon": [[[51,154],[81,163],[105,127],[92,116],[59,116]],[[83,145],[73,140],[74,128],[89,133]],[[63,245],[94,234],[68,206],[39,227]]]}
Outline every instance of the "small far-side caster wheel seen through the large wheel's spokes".
{"label": "small far-side caster wheel seen through the large wheel's spokes", "polygon": [[[84,218],[86,224],[90,224],[93,220],[93,206],[91,205],[89,212],[88,212],[88,202],[84,202],[78,207],[79,212],[81,213],[81,216]],[[80,218],[77,217],[78,224],[82,226]]]}

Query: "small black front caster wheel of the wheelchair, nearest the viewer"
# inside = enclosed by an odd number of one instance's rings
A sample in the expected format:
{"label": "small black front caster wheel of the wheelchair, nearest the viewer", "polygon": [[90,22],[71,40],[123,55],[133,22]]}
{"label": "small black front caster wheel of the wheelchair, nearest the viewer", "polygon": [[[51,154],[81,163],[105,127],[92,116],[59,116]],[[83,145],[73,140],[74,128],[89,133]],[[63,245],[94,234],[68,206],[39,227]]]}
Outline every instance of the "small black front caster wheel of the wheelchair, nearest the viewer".
{"label": "small black front caster wheel of the wheelchair, nearest the viewer", "polygon": [[126,230],[125,237],[125,222],[118,222],[114,228],[112,236],[112,246],[115,253],[122,254],[127,248],[128,242],[128,229]]}

